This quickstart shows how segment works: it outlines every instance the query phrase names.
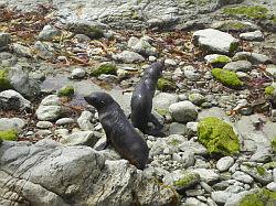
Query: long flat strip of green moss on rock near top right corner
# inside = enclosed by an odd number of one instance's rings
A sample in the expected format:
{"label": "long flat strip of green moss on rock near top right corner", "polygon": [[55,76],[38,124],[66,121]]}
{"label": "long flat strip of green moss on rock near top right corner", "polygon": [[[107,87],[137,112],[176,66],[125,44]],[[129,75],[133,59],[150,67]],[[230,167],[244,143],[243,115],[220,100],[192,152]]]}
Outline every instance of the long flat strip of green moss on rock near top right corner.
{"label": "long flat strip of green moss on rock near top right corner", "polygon": [[245,15],[250,19],[266,19],[268,10],[264,7],[254,6],[254,7],[236,7],[236,8],[225,8],[223,13],[229,15]]}

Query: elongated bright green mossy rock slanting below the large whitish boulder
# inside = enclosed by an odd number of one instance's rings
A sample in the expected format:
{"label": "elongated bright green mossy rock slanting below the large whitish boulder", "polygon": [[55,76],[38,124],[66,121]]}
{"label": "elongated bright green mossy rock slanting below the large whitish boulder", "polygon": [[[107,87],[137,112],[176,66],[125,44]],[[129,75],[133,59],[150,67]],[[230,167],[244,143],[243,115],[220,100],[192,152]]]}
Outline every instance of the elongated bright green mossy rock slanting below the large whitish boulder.
{"label": "elongated bright green mossy rock slanting below the large whitish boulder", "polygon": [[243,86],[243,82],[238,79],[237,75],[234,72],[222,69],[222,68],[213,68],[212,75],[221,82],[223,85],[227,87],[241,87]]}

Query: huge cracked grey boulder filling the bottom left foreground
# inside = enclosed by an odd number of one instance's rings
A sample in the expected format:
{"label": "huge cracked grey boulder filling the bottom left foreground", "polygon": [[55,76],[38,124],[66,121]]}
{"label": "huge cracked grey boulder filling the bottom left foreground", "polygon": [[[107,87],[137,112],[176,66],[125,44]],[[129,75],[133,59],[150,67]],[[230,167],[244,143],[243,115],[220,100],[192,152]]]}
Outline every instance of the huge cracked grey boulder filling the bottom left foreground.
{"label": "huge cracked grey boulder filling the bottom left foreground", "polygon": [[[0,205],[172,205],[176,192],[146,178],[126,160],[53,140],[3,141]],[[22,204],[23,202],[23,204]]]}

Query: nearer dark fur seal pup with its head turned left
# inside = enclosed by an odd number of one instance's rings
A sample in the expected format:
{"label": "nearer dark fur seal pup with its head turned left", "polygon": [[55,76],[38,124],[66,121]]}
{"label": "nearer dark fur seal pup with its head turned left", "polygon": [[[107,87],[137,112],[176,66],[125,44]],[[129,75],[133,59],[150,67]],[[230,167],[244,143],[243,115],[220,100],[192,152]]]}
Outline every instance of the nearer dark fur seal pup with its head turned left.
{"label": "nearer dark fur seal pup with its head turned left", "polygon": [[149,148],[142,137],[129,122],[120,106],[106,93],[92,93],[84,99],[98,111],[99,122],[106,133],[106,144],[110,144],[137,169],[144,170],[148,163]]}

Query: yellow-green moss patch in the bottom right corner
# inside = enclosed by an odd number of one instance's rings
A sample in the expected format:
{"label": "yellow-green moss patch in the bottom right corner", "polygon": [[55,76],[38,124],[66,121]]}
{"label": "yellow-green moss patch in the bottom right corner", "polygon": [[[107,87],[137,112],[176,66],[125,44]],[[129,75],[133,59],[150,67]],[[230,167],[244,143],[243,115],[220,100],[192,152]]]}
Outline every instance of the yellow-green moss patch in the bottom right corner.
{"label": "yellow-green moss patch in the bottom right corner", "polygon": [[248,194],[242,198],[238,206],[274,206],[276,205],[276,192],[262,188],[257,193]]}

